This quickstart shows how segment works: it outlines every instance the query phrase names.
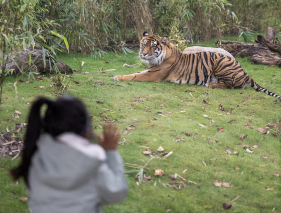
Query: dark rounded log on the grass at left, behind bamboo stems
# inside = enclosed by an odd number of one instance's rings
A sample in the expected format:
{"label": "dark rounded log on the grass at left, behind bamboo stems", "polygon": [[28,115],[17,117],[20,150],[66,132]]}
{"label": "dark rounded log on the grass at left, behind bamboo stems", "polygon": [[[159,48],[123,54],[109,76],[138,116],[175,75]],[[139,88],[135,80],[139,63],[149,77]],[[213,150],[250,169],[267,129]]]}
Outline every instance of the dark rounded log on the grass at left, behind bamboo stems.
{"label": "dark rounded log on the grass at left, behind bamboo stems", "polygon": [[[52,71],[50,70],[50,59],[46,54],[46,67],[44,66],[43,61],[43,52],[42,50],[23,50],[19,53],[15,53],[13,58],[8,60],[6,69],[14,70],[12,75],[16,75],[22,72],[29,70],[36,70],[39,73],[48,73],[50,74],[55,70],[54,64],[51,63]],[[73,70],[67,66],[65,63],[57,61],[56,65],[58,70],[63,74],[71,74]],[[0,66],[0,70],[2,66]]]}

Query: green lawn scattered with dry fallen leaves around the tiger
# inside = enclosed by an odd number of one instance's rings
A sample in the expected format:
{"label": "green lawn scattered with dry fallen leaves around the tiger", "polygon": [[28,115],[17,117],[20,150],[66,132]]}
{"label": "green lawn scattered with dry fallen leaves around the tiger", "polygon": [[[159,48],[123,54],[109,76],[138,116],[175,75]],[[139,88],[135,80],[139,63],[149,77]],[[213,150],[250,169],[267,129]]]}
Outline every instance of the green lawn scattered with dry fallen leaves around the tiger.
{"label": "green lawn scattered with dry fallen leaves around the tiger", "polygon": [[[109,76],[145,69],[138,63],[137,53],[108,53],[102,59],[62,54],[58,59],[82,72],[74,73],[64,81],[70,86],[68,94],[81,98],[93,115],[95,132],[101,132],[100,127],[107,116],[123,133],[119,152],[126,163],[129,193],[123,202],[105,206],[105,212],[281,211],[281,181],[280,177],[273,175],[280,173],[280,137],[259,134],[256,130],[258,127],[264,128],[267,123],[275,124],[278,127],[270,127],[269,131],[280,135],[281,104],[279,101],[274,103],[275,98],[257,93],[250,87],[225,90],[169,82],[113,81]],[[246,58],[237,60],[259,85],[281,95],[280,68],[252,65]],[[83,66],[82,61],[85,62]],[[135,67],[123,66],[124,63]],[[29,80],[27,76],[20,75],[5,79],[3,105],[0,106],[0,128],[3,132],[7,128],[13,131],[15,123],[26,122],[28,109],[36,96],[56,98],[59,90],[50,86],[52,80],[48,78],[44,76]],[[25,81],[20,83],[20,80]],[[77,81],[79,86],[72,80]],[[14,87],[16,81],[17,94]],[[219,105],[225,111],[220,110]],[[13,117],[15,110],[22,112],[16,120]],[[211,119],[203,117],[203,114]],[[245,124],[254,128],[245,128]],[[131,125],[136,128],[125,129]],[[223,128],[223,131],[218,131],[218,128]],[[192,136],[182,132],[192,133]],[[15,135],[22,137],[16,131]],[[247,137],[239,140],[243,135]],[[182,141],[177,141],[179,139]],[[255,143],[259,144],[259,148],[252,147]],[[253,153],[248,153],[243,145],[251,147]],[[164,152],[173,153],[165,160],[157,155],[151,159],[150,155],[142,153],[146,149],[144,146],[155,152],[162,146]],[[226,150],[239,154],[226,154]],[[263,156],[268,159],[263,159]],[[0,213],[29,212],[27,203],[20,199],[27,196],[23,182],[14,183],[7,175],[8,169],[15,166],[18,160],[0,158]],[[142,167],[147,162],[144,169],[153,180],[136,184],[134,176],[138,170],[129,165]],[[237,165],[239,169],[235,169]],[[162,169],[165,174],[162,177],[154,176],[154,169]],[[170,187],[172,184],[167,183],[172,179],[168,176],[175,173],[192,182],[187,181],[187,187],[179,190]],[[231,187],[215,187],[215,180],[227,182]],[[180,182],[181,178],[174,181]],[[266,186],[271,190],[266,190]],[[224,202],[230,202],[232,207],[224,210]]]}

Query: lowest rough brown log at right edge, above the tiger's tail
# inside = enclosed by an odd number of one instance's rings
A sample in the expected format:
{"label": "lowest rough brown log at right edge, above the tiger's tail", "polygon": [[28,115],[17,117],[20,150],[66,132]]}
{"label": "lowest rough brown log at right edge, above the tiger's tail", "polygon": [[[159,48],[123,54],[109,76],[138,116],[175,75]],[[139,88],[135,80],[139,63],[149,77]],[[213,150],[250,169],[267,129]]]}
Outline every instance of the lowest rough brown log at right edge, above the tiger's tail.
{"label": "lowest rough brown log at right edge, above the tiger's tail", "polygon": [[281,60],[281,56],[272,53],[270,50],[265,50],[263,47],[258,47],[258,46],[243,49],[239,53],[237,53],[235,57],[244,57],[244,56],[253,56],[253,55],[259,55],[267,58]]}

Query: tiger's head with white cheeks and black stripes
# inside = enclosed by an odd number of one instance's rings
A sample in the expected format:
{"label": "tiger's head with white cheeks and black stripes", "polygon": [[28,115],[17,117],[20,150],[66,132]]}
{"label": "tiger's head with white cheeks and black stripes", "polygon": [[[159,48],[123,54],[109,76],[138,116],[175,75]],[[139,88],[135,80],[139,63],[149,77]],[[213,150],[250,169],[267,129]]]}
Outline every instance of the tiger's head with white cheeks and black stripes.
{"label": "tiger's head with white cheeks and black stripes", "polygon": [[167,37],[150,36],[147,32],[144,32],[143,36],[139,47],[139,57],[150,66],[162,64],[165,58]]}

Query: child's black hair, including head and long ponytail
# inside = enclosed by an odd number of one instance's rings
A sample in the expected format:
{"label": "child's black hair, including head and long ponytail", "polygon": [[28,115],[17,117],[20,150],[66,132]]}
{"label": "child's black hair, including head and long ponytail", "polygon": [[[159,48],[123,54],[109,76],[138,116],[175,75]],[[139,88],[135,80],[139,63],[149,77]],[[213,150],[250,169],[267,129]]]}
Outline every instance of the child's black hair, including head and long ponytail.
{"label": "child's black hair, including head and long ponytail", "polygon": [[[40,113],[44,104],[47,104],[47,110],[42,118]],[[84,136],[90,128],[89,114],[79,99],[71,96],[63,96],[56,101],[44,97],[39,98],[31,107],[22,160],[18,167],[10,171],[12,177],[15,180],[23,177],[29,186],[29,167],[31,158],[37,150],[36,143],[40,134],[46,132],[56,137],[64,132],[74,132]]]}

